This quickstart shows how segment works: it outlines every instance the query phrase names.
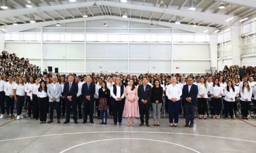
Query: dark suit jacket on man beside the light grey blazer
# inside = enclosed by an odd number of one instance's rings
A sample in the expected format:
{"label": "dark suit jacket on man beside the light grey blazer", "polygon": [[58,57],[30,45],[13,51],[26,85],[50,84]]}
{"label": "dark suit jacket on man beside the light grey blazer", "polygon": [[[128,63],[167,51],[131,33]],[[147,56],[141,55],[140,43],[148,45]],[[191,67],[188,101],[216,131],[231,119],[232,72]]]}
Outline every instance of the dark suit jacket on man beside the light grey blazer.
{"label": "dark suit jacket on man beside the light grey blazer", "polygon": [[65,95],[65,98],[67,99],[68,96],[72,96],[72,101],[76,100],[77,98],[77,92],[78,92],[78,84],[73,81],[70,91],[69,91],[69,82],[66,82],[64,84],[63,88],[63,94]]}

